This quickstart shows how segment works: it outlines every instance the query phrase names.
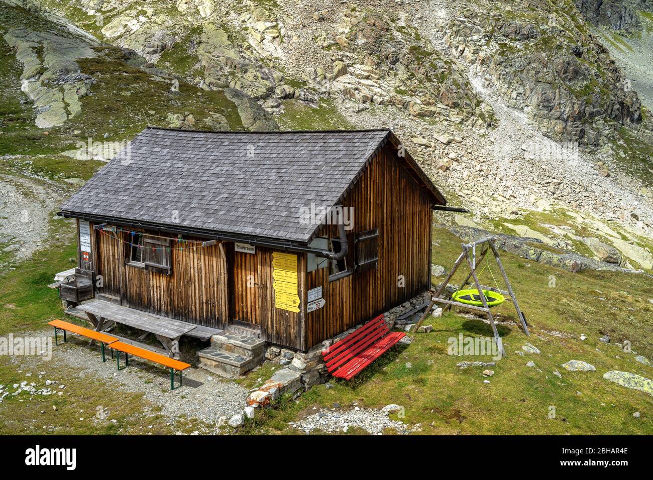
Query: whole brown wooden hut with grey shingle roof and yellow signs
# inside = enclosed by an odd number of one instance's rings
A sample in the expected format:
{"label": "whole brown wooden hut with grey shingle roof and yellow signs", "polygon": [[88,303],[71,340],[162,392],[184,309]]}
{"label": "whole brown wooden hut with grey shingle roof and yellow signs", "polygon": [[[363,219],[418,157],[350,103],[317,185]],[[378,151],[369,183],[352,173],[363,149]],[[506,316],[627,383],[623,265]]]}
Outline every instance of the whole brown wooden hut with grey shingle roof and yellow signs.
{"label": "whole brown wooden hut with grey shingle roof and yellow signs", "polygon": [[430,287],[445,203],[389,130],[150,127],[59,214],[95,298],[306,351]]}

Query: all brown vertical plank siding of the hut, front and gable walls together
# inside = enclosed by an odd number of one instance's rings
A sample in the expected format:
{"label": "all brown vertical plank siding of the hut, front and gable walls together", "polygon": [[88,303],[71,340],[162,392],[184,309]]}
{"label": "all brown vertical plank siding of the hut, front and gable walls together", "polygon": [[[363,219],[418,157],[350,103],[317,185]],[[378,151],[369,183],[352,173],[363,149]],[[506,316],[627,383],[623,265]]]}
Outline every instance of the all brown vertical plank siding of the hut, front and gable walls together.
{"label": "all brown vertical plank siding of the hut, front and gable walls together", "polygon": [[[328,268],[307,273],[306,253],[296,253],[298,313],[274,306],[273,249],[257,246],[254,254],[242,253],[227,242],[225,261],[217,244],[197,249],[188,244],[172,251],[171,274],[165,275],[126,264],[127,246],[91,223],[91,262],[103,280],[98,291],[121,298],[124,306],[207,327],[252,323],[263,340],[306,351],[430,287],[433,199],[398,161],[394,147],[379,150],[342,203],[353,208],[347,266],[355,264],[355,235],[378,229],[378,267],[328,281]],[[337,227],[325,225],[319,236],[337,238]],[[253,286],[247,285],[248,275]],[[307,313],[308,290],[320,286],[326,304]]]}

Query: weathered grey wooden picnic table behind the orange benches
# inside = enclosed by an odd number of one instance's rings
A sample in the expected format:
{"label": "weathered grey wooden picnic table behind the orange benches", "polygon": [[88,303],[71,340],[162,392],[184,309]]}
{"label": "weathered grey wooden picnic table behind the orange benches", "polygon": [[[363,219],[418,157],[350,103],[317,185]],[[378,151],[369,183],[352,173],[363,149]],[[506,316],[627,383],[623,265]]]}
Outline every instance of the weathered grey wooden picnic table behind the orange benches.
{"label": "weathered grey wooden picnic table behind the orange benches", "polygon": [[180,337],[197,327],[169,317],[123,307],[106,300],[91,300],[79,304],[77,308],[86,312],[96,332],[102,332],[114,323],[120,323],[154,334],[163,345],[168,357],[174,359],[179,359]]}

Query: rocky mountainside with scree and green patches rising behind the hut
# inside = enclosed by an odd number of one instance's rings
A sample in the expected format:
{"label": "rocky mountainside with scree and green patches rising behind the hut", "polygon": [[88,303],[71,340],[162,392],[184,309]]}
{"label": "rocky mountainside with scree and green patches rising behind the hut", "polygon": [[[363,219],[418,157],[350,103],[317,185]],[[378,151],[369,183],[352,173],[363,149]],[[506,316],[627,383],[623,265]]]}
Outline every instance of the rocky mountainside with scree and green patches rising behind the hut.
{"label": "rocky mountainside with scree and green patches rising behind the hut", "polygon": [[590,256],[592,238],[653,268],[650,62],[605,40],[647,45],[649,0],[3,1],[4,18],[50,24],[5,21],[0,37],[31,135],[58,132],[57,153],[75,131],[130,138],[145,123],[392,127],[473,212],[442,221],[522,225]]}

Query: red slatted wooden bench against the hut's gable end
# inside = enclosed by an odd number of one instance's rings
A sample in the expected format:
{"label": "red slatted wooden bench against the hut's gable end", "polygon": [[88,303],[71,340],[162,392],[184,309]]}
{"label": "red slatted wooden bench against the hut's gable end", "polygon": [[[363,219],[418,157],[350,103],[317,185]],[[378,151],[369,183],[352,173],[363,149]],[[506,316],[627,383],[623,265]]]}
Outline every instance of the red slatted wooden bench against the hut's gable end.
{"label": "red slatted wooden bench against the hut's gable end", "polygon": [[327,370],[334,377],[351,380],[374,360],[378,359],[399,340],[405,332],[390,332],[383,315],[358,328],[322,352]]}

